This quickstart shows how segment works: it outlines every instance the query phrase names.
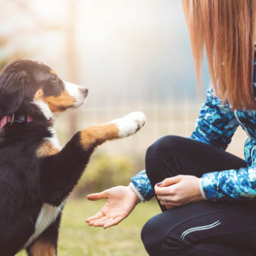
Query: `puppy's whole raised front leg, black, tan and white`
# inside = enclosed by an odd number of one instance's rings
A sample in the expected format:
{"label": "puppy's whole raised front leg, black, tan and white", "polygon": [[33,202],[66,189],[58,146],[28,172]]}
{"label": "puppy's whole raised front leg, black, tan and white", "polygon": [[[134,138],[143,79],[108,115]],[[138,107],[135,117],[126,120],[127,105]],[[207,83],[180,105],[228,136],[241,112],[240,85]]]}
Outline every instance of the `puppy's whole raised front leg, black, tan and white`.
{"label": "puppy's whole raised front leg, black, tan and white", "polygon": [[93,150],[107,140],[134,134],[146,122],[145,115],[133,112],[101,125],[93,125],[77,132],[67,145],[42,161],[41,187],[44,202],[61,205],[80,179]]}

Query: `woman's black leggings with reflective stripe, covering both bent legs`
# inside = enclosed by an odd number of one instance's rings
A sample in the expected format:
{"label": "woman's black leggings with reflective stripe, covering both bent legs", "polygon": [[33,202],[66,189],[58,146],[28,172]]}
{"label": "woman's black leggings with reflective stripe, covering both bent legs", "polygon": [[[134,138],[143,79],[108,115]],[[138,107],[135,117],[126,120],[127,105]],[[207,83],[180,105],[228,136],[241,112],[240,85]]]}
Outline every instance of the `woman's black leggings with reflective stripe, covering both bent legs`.
{"label": "woman's black leggings with reflective stripe, covering both bent legs", "polygon": [[[188,138],[166,136],[147,150],[152,188],[175,175],[195,175],[246,166],[243,159]],[[160,205],[161,206],[161,205]],[[256,255],[256,200],[200,201],[166,210],[147,221],[141,239],[150,256]]]}

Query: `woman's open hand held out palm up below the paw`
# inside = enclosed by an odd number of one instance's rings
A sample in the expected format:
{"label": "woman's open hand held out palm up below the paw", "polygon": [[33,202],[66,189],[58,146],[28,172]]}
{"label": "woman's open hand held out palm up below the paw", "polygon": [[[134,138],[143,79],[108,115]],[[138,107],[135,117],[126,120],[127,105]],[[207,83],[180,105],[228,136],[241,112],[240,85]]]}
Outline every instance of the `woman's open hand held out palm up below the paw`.
{"label": "woman's open hand held out palm up below the paw", "polygon": [[88,195],[87,198],[92,201],[102,198],[108,199],[99,212],[86,219],[86,222],[88,222],[90,226],[103,228],[108,228],[120,223],[140,202],[138,196],[129,186],[117,186],[106,189],[101,193]]}

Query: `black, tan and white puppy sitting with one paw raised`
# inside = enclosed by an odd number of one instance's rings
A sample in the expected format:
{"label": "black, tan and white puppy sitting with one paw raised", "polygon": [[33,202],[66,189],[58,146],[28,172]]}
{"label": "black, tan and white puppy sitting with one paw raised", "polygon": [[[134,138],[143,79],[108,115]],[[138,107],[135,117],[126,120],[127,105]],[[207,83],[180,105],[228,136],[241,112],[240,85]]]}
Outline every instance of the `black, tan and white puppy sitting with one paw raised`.
{"label": "black, tan and white puppy sitting with one paw raised", "polygon": [[88,89],[62,81],[51,67],[16,60],[0,74],[0,255],[57,255],[65,199],[95,147],[134,134],[145,124],[134,112],[77,132],[64,148],[54,120],[83,105]]}

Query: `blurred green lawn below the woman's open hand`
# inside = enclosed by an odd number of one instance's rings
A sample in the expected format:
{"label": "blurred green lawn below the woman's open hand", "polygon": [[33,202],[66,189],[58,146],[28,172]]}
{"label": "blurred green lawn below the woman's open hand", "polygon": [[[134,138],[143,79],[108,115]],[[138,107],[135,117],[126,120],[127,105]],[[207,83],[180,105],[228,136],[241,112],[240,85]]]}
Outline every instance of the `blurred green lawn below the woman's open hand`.
{"label": "blurred green lawn below the woman's open hand", "polygon": [[[146,256],[140,239],[145,222],[160,212],[157,202],[139,204],[131,215],[115,227],[89,227],[85,219],[99,211],[101,202],[68,200],[63,211],[58,255],[61,256]],[[25,252],[17,255],[25,256]]]}

